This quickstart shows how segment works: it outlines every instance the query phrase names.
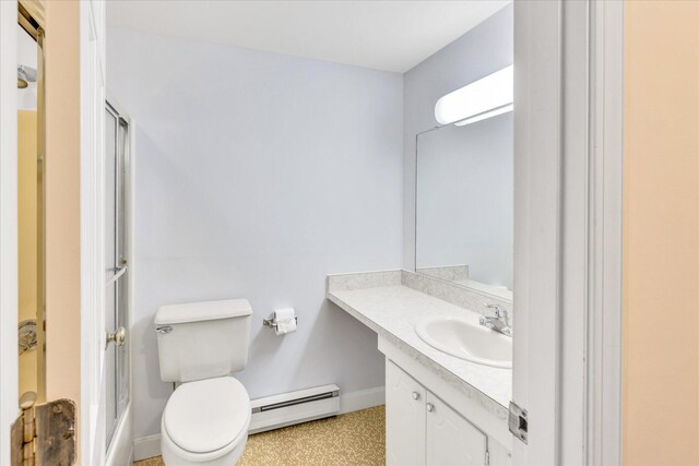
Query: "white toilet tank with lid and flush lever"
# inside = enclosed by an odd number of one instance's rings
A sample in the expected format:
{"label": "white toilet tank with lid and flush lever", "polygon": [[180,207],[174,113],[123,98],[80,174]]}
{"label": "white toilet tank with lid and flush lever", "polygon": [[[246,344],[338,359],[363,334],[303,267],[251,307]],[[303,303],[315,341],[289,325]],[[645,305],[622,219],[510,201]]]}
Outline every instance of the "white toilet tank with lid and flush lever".
{"label": "white toilet tank with lid and flush lever", "polygon": [[191,382],[242,370],[251,314],[247,299],[161,307],[155,314],[161,379]]}

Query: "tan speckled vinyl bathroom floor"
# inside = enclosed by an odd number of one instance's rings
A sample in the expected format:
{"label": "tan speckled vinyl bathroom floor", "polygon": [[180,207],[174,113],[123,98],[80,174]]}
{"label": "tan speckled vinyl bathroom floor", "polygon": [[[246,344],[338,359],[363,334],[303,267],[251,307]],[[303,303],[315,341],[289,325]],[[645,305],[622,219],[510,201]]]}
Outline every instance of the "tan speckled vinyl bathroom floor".
{"label": "tan speckled vinyl bathroom floor", "polygon": [[[377,406],[250,435],[238,466],[384,465],[384,416],[383,406]],[[162,466],[163,461],[135,465]]]}

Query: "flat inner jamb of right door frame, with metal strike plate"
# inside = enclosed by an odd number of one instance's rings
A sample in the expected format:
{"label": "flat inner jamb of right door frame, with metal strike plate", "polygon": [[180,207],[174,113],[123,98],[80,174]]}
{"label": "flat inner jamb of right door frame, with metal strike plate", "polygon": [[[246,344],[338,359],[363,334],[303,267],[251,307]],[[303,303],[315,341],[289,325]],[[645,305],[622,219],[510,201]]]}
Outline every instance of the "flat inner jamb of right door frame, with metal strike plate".
{"label": "flat inner jamb of right door frame, with metal strike plate", "polygon": [[559,464],[562,4],[514,2],[512,399],[529,411],[517,465]]}

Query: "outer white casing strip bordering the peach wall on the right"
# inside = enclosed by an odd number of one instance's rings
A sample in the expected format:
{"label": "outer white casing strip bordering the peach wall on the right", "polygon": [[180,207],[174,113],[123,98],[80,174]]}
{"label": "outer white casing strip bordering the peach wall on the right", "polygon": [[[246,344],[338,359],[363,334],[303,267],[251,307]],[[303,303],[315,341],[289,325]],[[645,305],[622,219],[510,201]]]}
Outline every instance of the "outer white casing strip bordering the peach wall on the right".
{"label": "outer white casing strip bordering the peach wall on the right", "polygon": [[588,320],[591,465],[621,464],[624,2],[591,3],[592,283]]}

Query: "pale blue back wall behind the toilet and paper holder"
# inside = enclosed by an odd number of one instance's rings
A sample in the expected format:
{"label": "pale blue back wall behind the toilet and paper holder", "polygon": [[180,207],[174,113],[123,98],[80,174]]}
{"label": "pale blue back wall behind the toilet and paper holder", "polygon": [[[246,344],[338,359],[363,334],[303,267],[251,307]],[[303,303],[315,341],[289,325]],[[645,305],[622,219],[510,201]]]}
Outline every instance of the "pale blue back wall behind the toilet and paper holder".
{"label": "pale blue back wall behind the toilet and paper holder", "polygon": [[[383,385],[376,334],[324,299],[329,273],[398,268],[403,76],[109,29],[107,86],[134,118],[134,437],[157,433],[153,316],[245,297],[251,397]],[[295,307],[298,332],[262,319]]]}

